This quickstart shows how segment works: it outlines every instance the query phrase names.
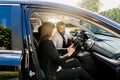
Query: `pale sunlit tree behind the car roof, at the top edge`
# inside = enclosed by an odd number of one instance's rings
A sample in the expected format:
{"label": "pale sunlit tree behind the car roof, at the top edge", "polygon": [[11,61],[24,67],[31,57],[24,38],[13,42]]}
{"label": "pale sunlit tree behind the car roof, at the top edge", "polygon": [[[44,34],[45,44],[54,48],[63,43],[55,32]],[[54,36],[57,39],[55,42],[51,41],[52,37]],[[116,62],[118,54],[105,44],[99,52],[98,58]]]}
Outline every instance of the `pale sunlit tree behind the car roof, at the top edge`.
{"label": "pale sunlit tree behind the car roof, at the top edge", "polygon": [[98,13],[103,4],[100,2],[100,0],[79,0],[77,5],[79,7]]}

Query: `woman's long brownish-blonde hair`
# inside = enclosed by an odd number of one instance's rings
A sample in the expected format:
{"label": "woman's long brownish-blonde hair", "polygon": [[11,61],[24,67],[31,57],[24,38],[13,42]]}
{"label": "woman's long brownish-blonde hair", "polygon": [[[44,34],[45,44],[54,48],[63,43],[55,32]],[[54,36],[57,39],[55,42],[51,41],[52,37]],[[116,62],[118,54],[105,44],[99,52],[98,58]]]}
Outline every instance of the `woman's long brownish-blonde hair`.
{"label": "woman's long brownish-blonde hair", "polygon": [[55,25],[51,22],[44,22],[42,26],[40,26],[38,32],[39,32],[39,44],[51,37],[52,30],[54,29]]}

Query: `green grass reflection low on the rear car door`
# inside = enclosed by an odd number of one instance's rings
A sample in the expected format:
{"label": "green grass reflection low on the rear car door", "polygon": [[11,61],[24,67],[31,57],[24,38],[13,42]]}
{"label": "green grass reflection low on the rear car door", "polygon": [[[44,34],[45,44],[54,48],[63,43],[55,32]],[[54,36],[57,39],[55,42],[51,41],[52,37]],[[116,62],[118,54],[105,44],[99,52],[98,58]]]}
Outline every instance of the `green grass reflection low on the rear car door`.
{"label": "green grass reflection low on the rear car door", "polygon": [[15,78],[18,76],[19,76],[18,72],[0,71],[0,80],[8,80],[8,79]]}

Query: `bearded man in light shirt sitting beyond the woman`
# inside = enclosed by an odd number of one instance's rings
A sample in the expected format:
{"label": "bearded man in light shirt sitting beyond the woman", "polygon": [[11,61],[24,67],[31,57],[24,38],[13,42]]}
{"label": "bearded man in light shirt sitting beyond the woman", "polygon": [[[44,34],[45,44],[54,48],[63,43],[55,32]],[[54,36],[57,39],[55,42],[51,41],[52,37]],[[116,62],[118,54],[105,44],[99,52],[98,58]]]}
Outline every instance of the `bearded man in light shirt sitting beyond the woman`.
{"label": "bearded man in light shirt sitting beyond the woman", "polygon": [[72,35],[68,35],[65,31],[64,22],[60,21],[56,25],[57,32],[53,37],[53,43],[56,48],[67,48],[68,47],[68,39],[72,39]]}

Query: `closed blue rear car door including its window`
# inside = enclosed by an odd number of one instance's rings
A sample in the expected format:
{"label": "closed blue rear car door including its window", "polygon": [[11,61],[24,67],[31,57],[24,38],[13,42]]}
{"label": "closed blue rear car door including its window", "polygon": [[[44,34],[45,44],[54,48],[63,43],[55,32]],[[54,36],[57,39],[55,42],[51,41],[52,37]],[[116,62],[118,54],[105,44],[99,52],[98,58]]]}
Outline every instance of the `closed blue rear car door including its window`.
{"label": "closed blue rear car door including its window", "polygon": [[0,78],[8,79],[18,77],[22,60],[20,5],[0,3],[0,11]]}

